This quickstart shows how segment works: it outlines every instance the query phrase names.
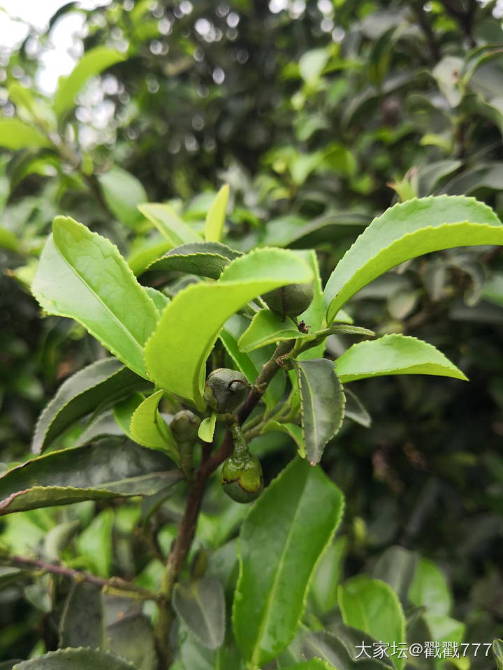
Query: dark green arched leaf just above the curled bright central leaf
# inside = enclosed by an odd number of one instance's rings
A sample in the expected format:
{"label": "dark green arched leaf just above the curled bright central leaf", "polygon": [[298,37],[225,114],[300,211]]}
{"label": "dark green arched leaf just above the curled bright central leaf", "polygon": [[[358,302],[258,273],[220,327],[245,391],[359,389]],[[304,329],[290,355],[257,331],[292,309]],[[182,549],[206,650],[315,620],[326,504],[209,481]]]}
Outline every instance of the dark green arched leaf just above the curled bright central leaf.
{"label": "dark green arched leaf just above the curled bright central leaf", "polygon": [[231,260],[241,255],[240,251],[234,251],[219,242],[189,242],[154,260],[147,271],[175,270],[218,279]]}

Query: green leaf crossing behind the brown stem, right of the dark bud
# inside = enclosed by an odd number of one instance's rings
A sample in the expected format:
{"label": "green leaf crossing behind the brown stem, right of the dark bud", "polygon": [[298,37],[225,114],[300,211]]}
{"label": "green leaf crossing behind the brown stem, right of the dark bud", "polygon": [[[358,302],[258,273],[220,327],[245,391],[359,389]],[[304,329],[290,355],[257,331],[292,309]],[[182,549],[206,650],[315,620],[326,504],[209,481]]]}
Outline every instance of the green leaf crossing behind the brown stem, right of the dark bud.
{"label": "green leaf crossing behind the brown stem, right of the dark bud", "polygon": [[[272,356],[275,348],[273,345],[263,347],[260,350],[245,353],[240,351],[238,341],[240,336],[245,332],[249,320],[241,314],[233,314],[231,318],[227,319],[224,327],[221,329],[220,339],[224,343],[228,355],[233,359],[240,371],[246,375],[250,384],[256,380],[258,373],[260,373],[262,366],[268,362]],[[284,394],[286,386],[286,376],[284,371],[279,370],[267,387],[262,399],[265,407],[268,410],[277,405]]]}

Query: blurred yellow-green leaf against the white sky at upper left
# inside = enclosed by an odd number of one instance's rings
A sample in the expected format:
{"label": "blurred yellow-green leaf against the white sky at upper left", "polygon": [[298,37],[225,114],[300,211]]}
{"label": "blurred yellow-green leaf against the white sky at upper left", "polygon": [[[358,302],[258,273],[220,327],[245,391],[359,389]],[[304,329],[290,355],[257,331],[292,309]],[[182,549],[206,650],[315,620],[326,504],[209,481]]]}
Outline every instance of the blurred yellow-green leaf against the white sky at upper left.
{"label": "blurred yellow-green leaf against the white sky at upper left", "polygon": [[75,96],[90,77],[99,75],[119,61],[126,60],[126,55],[108,47],[95,47],[86,52],[68,77],[59,80],[59,86],[54,95],[54,112],[58,116],[64,114],[75,105]]}

